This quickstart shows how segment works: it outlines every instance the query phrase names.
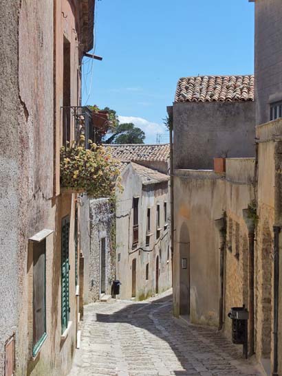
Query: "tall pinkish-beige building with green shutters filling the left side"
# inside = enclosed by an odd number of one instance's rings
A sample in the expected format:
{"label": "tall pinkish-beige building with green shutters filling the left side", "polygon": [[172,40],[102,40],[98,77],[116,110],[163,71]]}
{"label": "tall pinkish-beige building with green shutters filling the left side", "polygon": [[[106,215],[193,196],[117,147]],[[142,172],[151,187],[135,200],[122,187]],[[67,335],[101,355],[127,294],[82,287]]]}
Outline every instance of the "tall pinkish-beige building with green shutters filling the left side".
{"label": "tall pinkish-beige building with green shutters filling the left side", "polygon": [[60,148],[76,136],[69,107],[80,105],[94,0],[4,0],[0,11],[0,374],[66,375],[79,213],[60,187]]}

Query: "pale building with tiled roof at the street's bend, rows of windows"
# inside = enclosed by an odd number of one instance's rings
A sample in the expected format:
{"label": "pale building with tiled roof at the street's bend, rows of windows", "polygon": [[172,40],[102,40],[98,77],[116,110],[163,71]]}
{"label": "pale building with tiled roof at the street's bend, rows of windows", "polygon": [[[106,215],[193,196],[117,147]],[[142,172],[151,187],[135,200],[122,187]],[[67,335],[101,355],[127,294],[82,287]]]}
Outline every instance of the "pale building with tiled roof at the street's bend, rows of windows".
{"label": "pale building with tiled roof at the street's bend, rows of windows", "polygon": [[116,190],[119,298],[143,300],[171,287],[169,145],[111,145],[122,162]]}

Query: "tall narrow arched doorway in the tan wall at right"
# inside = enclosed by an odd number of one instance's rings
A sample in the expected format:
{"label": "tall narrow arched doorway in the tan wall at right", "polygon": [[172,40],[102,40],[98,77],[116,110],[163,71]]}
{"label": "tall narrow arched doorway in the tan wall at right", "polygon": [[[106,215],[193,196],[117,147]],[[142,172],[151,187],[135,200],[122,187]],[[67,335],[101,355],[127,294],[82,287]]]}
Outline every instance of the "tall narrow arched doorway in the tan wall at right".
{"label": "tall narrow arched doorway in the tan wall at right", "polygon": [[190,314],[190,238],[188,227],[180,229],[180,315]]}

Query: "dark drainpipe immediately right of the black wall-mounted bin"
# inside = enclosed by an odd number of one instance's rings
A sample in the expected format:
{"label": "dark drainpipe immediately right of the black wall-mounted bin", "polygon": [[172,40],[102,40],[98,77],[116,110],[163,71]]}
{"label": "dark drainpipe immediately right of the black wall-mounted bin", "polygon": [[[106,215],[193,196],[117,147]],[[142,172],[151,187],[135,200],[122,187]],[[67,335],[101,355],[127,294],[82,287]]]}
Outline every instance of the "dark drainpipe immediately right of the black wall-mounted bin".
{"label": "dark drainpipe immediately right of the black wall-mounted bin", "polygon": [[255,230],[255,223],[254,219],[250,216],[249,209],[243,209],[243,219],[246,223],[248,228],[248,275],[249,275],[249,355],[254,354],[254,230]]}

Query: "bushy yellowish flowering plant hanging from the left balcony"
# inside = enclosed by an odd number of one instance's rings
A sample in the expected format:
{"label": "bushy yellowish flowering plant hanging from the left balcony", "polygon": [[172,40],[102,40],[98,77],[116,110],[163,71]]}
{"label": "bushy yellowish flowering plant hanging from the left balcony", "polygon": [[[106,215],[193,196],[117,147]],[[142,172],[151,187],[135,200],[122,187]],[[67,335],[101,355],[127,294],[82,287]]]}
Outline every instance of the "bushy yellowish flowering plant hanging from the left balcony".
{"label": "bushy yellowish flowering plant hanging from the left balcony", "polygon": [[94,198],[111,197],[120,174],[119,162],[111,158],[104,146],[89,141],[90,148],[80,144],[61,147],[61,187],[86,192]]}

